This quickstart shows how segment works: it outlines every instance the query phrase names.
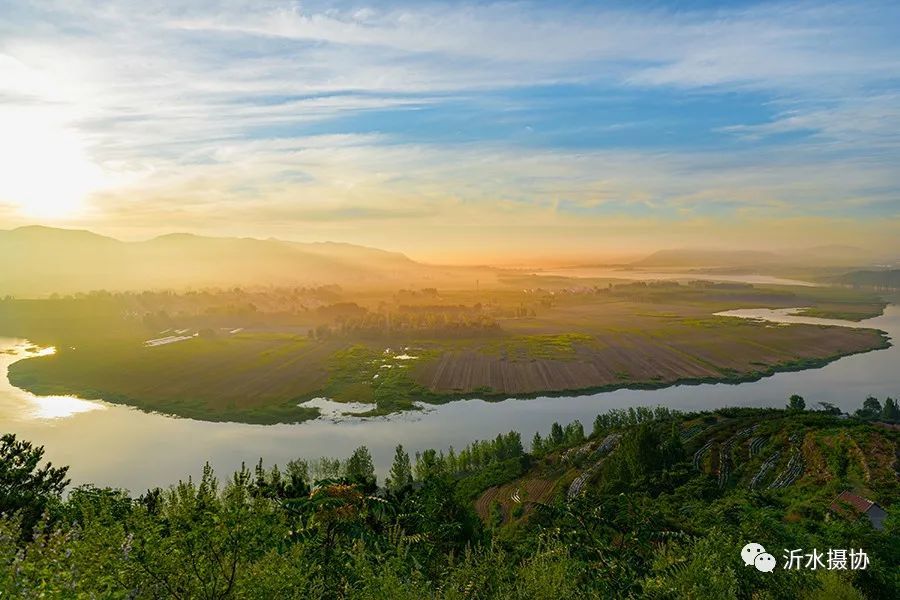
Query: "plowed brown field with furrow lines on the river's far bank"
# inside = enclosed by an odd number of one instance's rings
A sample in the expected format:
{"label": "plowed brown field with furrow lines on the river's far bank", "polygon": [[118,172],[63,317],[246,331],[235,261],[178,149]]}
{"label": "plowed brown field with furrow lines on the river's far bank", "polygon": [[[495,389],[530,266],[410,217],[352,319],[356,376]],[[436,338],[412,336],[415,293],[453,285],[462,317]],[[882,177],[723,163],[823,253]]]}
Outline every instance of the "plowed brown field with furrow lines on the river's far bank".
{"label": "plowed brown field with furrow lines on the river's far bank", "polygon": [[[598,332],[568,359],[511,358],[459,350],[443,353],[417,373],[437,393],[490,390],[532,394],[684,380],[753,377],[794,364],[823,361],[877,347],[873,330],[843,327],[717,324],[713,329],[672,332],[671,337]],[[812,366],[807,364],[806,366]]]}

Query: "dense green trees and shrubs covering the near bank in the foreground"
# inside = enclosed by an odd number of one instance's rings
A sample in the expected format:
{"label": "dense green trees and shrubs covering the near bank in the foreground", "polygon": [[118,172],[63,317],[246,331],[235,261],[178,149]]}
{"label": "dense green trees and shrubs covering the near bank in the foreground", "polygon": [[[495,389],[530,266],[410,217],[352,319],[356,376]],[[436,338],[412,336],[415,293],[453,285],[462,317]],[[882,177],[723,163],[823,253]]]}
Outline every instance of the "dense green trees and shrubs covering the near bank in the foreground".
{"label": "dense green trees and shrubs covering the near bank in the foreground", "polygon": [[[207,468],[138,497],[94,486],[63,497],[65,469],[4,436],[0,598],[898,597],[897,431],[792,404],[614,411],[590,437],[555,425],[531,453],[516,432],[415,460],[398,446],[384,487],[361,447],[224,481]],[[751,430],[772,444],[801,432],[803,476],[748,486],[770,448]],[[860,459],[876,449],[887,454]],[[578,475],[587,483],[572,493]],[[887,508],[884,530],[829,511],[857,480]],[[552,491],[520,495],[529,481]],[[510,482],[512,510],[476,512],[476,498]],[[871,562],[762,573],[740,558],[748,541],[779,563],[782,549],[830,547],[863,548]]]}

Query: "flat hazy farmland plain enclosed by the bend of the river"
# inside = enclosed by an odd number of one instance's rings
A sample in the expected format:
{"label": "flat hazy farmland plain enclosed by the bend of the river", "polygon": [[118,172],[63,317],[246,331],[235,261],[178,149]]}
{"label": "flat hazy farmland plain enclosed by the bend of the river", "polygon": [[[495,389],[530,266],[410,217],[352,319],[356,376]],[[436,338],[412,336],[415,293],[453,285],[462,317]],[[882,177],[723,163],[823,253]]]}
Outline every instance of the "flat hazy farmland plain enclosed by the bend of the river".
{"label": "flat hazy farmland plain enclosed by the bend of the river", "polygon": [[[383,415],[460,397],[747,381],[887,345],[871,329],[714,316],[790,306],[817,316],[880,312],[876,297],[843,288],[516,283],[534,287],[342,292],[315,310],[265,290],[241,292],[241,304],[237,292],[6,300],[0,334],[56,347],[10,368],[13,384],[34,393],[248,423],[314,418],[317,409],[301,403],[316,397]],[[144,343],[175,330],[193,337]]]}

